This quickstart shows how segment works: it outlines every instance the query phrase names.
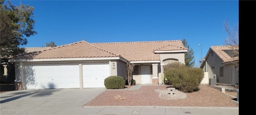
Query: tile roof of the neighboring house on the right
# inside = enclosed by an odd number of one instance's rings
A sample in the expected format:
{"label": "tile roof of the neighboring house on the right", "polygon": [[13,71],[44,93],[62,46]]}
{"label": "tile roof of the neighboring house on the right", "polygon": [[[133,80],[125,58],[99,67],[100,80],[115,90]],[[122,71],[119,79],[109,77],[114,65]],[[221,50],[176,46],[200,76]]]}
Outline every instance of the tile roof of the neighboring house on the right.
{"label": "tile roof of the neighboring house on the right", "polygon": [[222,63],[227,63],[231,61],[238,61],[239,57],[230,57],[229,54],[224,52],[224,50],[233,50],[231,46],[211,46],[211,48],[219,57],[223,60]]}

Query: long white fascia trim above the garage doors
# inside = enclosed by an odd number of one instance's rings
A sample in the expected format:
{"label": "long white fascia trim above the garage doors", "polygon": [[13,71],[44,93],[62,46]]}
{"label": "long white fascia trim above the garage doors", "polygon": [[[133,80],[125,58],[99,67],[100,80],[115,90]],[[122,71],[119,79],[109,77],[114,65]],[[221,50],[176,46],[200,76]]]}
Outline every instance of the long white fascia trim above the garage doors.
{"label": "long white fascia trim above the garage doors", "polygon": [[86,57],[86,58],[58,58],[58,59],[10,59],[11,62],[17,61],[83,61],[83,60],[109,60],[109,59],[120,59],[127,62],[122,57]]}

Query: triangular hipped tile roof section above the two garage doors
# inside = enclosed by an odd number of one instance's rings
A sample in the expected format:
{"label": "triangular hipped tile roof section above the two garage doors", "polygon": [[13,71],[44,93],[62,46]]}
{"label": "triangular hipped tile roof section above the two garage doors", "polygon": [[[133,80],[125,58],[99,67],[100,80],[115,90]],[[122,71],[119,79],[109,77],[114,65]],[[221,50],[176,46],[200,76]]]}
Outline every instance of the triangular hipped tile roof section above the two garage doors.
{"label": "triangular hipped tile roof section above the two garage doors", "polygon": [[56,58],[82,58],[82,57],[118,57],[102,48],[88,42],[81,41],[63,46],[57,46],[34,53],[13,57],[13,59],[56,59]]}

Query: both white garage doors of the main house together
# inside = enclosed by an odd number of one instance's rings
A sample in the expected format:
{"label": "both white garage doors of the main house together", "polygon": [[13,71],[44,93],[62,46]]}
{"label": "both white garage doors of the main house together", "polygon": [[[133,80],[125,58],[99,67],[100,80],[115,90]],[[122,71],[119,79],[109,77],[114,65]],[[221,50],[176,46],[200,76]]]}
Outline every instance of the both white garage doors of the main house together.
{"label": "both white garage doors of the main house together", "polygon": [[[108,63],[82,65],[84,88],[101,88],[104,79],[110,76]],[[25,65],[26,89],[79,88],[78,64]]]}

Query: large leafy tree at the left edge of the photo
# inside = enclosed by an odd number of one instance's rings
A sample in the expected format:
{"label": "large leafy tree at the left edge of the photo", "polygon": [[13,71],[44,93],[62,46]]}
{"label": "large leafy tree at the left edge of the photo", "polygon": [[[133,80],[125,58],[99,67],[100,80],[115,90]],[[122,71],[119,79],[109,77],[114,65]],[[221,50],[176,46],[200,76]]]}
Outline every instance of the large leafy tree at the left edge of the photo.
{"label": "large leafy tree at the left edge of the photo", "polygon": [[37,34],[34,31],[35,21],[34,7],[23,5],[12,5],[10,1],[4,4],[0,0],[0,60],[7,61],[10,56],[16,56],[25,52],[22,45],[28,43],[27,38]]}

